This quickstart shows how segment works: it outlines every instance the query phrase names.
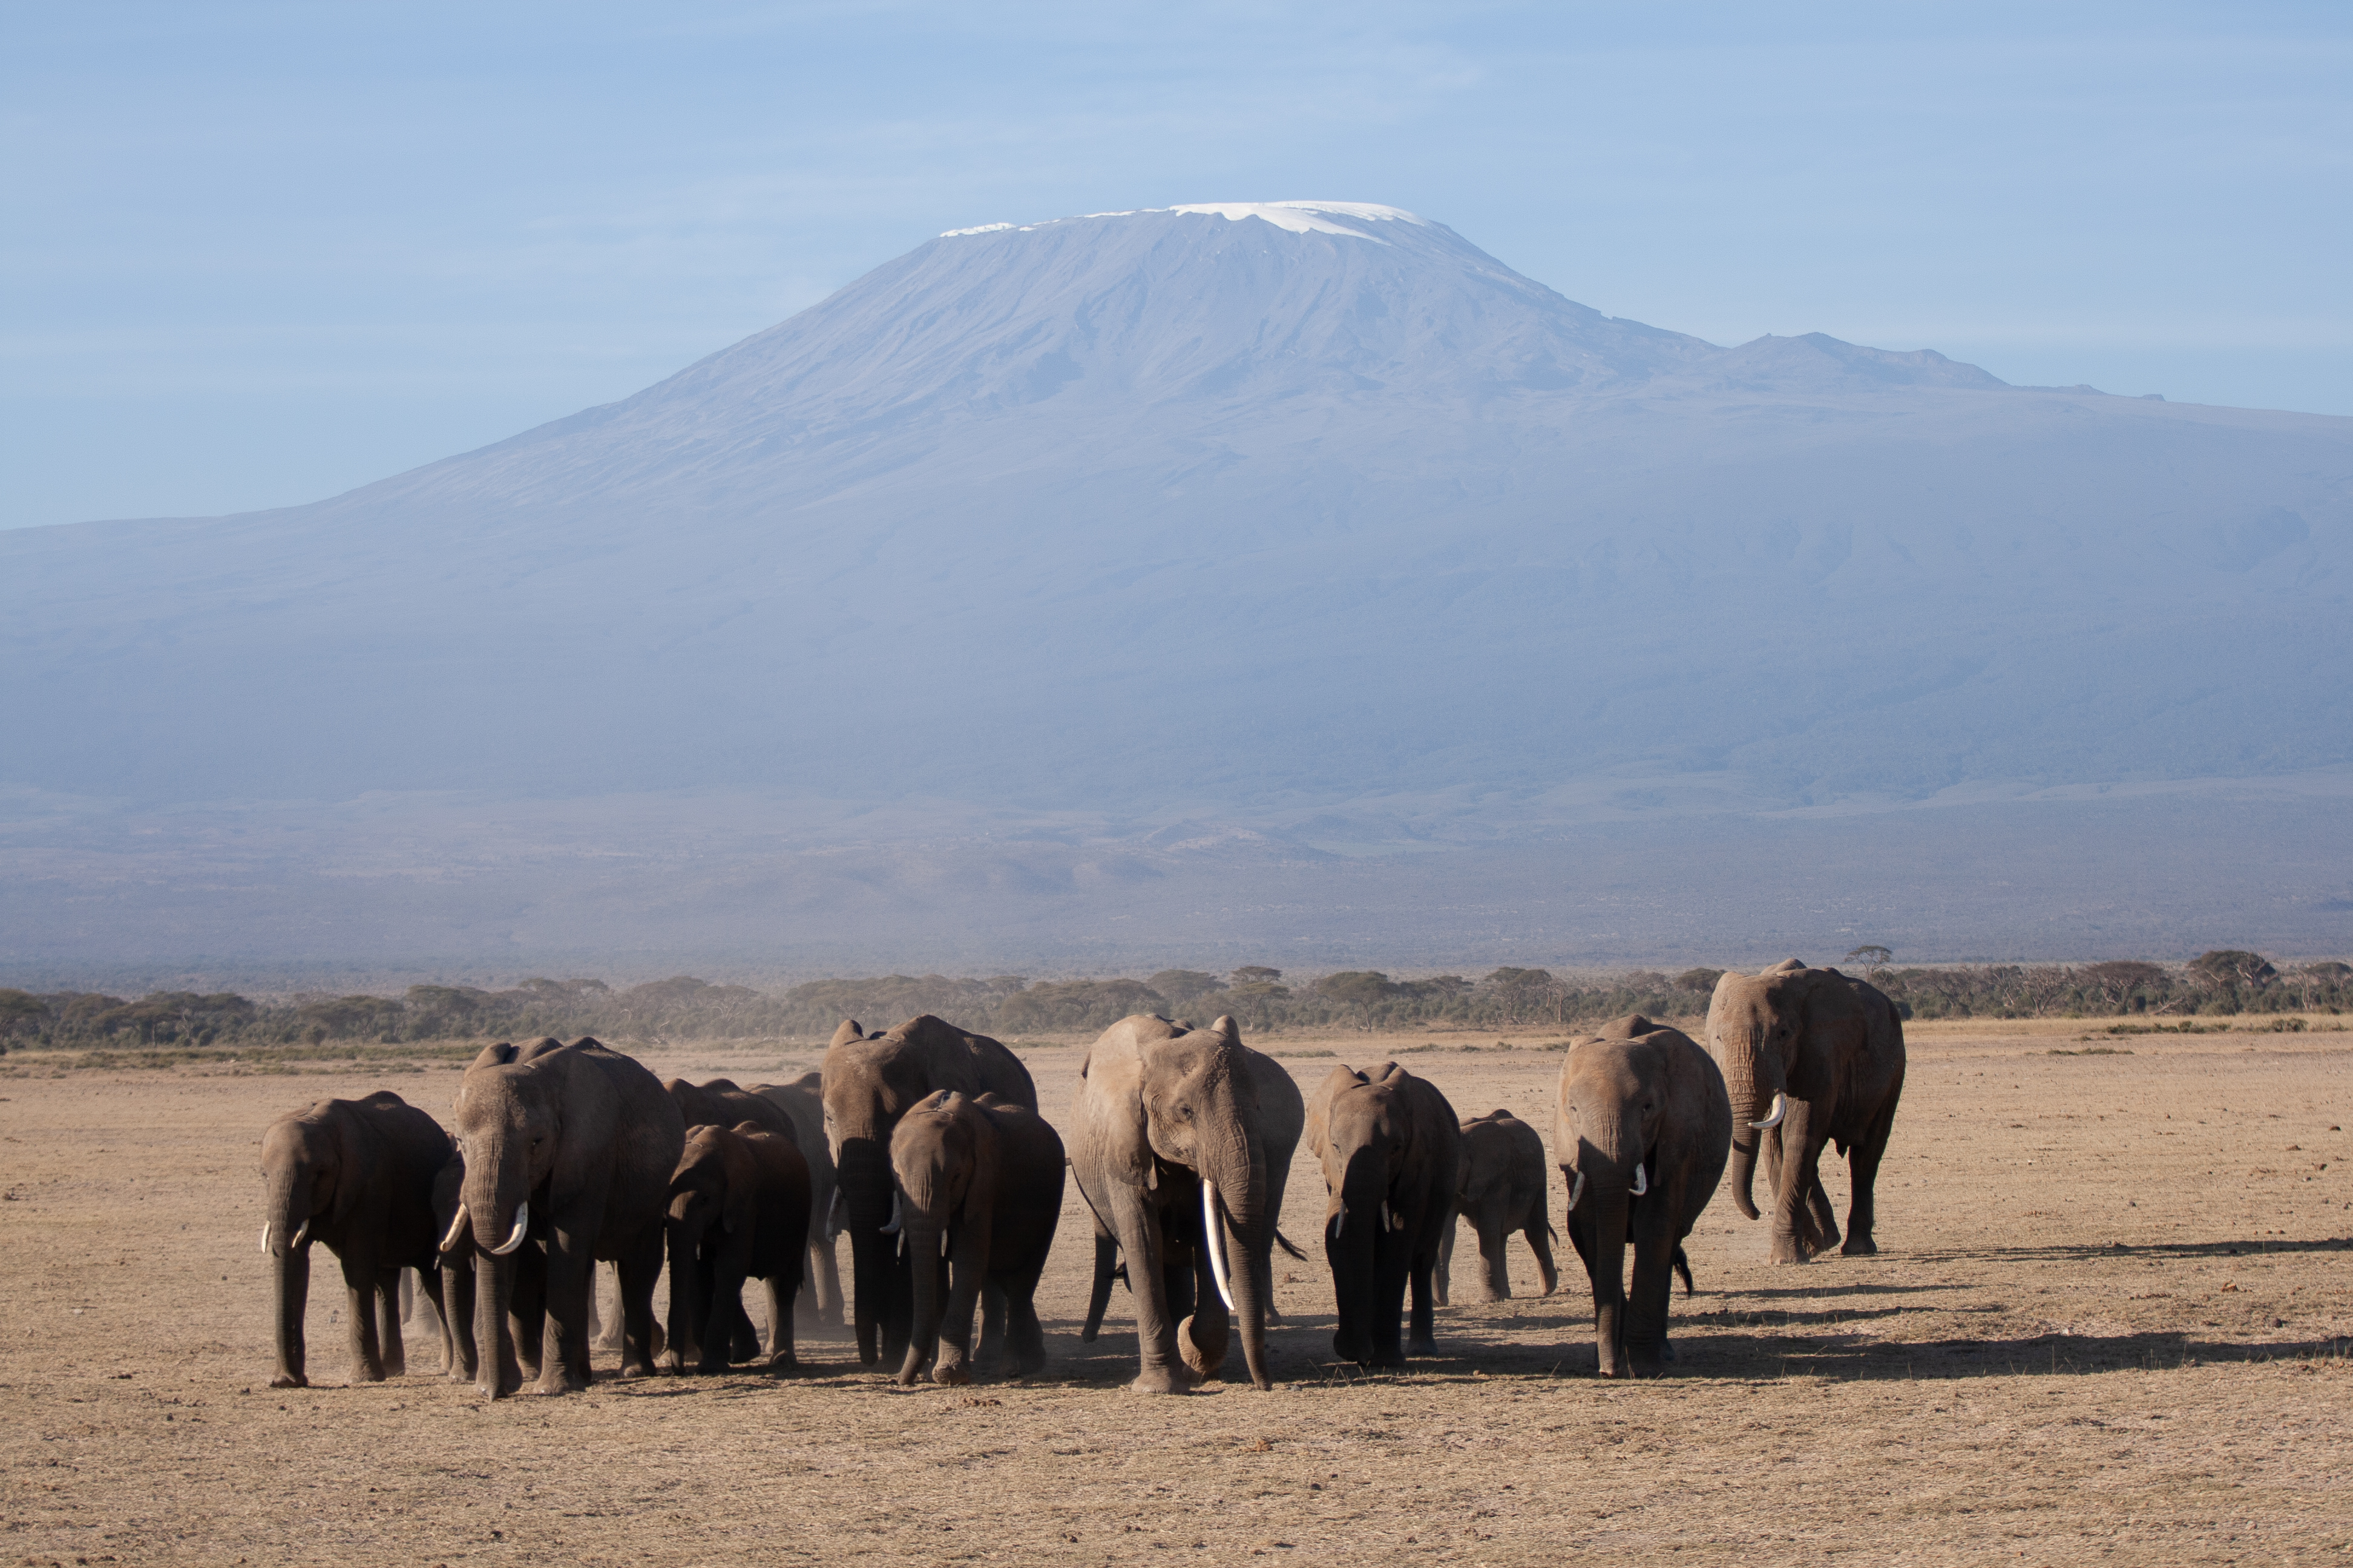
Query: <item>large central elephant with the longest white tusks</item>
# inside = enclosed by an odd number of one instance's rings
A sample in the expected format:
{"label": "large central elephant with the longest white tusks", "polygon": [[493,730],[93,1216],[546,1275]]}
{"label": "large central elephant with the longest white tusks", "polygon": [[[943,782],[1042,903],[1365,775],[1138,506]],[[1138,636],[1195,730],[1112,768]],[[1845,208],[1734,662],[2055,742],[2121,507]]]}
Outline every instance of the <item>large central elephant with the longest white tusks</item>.
{"label": "large central elephant with the longest white tusks", "polygon": [[1141,1347],[1132,1389],[1181,1394],[1214,1373],[1228,1305],[1249,1382],[1273,1387],[1266,1302],[1304,1121],[1299,1084],[1245,1046],[1233,1018],[1195,1030],[1134,1013],[1087,1051],[1071,1105],[1071,1175],[1127,1253]]}

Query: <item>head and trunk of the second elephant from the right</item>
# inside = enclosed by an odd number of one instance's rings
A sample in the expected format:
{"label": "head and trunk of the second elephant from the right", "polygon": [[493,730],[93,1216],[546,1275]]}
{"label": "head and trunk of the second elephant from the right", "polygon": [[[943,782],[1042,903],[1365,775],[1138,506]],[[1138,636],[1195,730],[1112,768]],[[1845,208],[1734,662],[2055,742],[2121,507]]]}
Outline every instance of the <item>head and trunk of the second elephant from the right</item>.
{"label": "head and trunk of the second elephant from the right", "polygon": [[1626,1232],[1633,1206],[1661,1180],[1659,1143],[1671,1098],[1666,1053],[1642,1039],[1586,1039],[1569,1046],[1560,1065],[1553,1152],[1569,1182],[1567,1222],[1593,1274],[1602,1378],[1628,1371]]}

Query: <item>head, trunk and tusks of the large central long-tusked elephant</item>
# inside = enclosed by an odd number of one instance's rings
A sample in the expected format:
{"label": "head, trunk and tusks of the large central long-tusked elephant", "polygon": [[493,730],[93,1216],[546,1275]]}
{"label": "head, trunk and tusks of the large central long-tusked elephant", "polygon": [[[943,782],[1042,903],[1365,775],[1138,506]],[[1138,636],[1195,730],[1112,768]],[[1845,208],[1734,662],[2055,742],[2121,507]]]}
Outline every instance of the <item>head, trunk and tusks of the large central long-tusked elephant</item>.
{"label": "head, trunk and tusks of the large central long-tusked elephant", "polygon": [[[1273,1246],[1264,1107],[1242,1060],[1242,1030],[1219,1018],[1207,1030],[1176,1032],[1141,1053],[1144,1140],[1151,1154],[1200,1182],[1202,1248],[1217,1293],[1242,1326],[1249,1380],[1266,1389],[1266,1298],[1252,1265]],[[1176,1347],[1195,1373],[1226,1359],[1224,1309],[1179,1324]]]}

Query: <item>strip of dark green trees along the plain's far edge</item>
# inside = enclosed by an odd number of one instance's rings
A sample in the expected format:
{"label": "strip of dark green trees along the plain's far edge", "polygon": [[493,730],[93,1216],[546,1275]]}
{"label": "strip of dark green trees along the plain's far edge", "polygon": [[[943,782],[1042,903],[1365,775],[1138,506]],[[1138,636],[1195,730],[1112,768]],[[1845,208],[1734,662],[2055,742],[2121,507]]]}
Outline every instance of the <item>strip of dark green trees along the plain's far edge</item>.
{"label": "strip of dark green trees along the plain's far edge", "polygon": [[[2353,966],[2278,969],[2257,952],[2214,950],[2188,964],[1955,964],[1897,969],[1864,947],[1854,969],[1906,1018],[2193,1018],[2339,1013],[2353,1006]],[[1497,969],[1482,978],[1395,980],[1377,969],[1285,978],[1249,964],[1226,976],[1162,969],[1144,980],[986,980],[878,976],[809,980],[784,992],[692,976],[616,990],[605,980],[525,980],[511,990],[412,985],[400,997],[252,1001],[231,992],[99,992],[0,987],[0,1048],[14,1046],[292,1046],[325,1041],[532,1039],[826,1039],[842,1018],[887,1027],[915,1013],[1021,1039],[1101,1030],[1129,1013],[1233,1018],[1254,1034],[1285,1030],[1558,1027],[1649,1013],[1694,1020],[1718,969],[1555,976]]]}

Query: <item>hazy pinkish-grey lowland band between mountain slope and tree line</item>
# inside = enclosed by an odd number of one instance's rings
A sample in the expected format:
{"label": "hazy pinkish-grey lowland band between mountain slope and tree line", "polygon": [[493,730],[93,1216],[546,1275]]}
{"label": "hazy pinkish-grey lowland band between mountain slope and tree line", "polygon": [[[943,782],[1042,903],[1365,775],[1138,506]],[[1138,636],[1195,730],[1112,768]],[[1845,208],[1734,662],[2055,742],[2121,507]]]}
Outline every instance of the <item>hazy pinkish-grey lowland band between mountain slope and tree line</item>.
{"label": "hazy pinkish-grey lowland band between mountain slope and tree line", "polygon": [[[1640,795],[1640,792],[1635,792]],[[1115,823],[751,797],[165,813],[19,797],[0,983],[381,990],[529,973],[1151,973],[2353,950],[2346,780],[1800,816]],[[1419,837],[1414,837],[1419,835]]]}

